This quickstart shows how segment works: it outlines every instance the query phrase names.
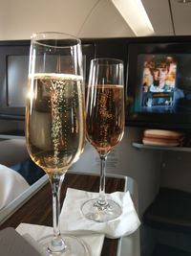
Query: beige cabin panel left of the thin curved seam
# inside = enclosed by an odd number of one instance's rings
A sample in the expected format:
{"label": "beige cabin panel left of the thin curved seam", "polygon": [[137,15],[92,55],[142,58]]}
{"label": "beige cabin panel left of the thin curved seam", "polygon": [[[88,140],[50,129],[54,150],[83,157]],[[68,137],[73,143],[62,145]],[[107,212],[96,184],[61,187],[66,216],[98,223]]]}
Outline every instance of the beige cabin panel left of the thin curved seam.
{"label": "beige cabin panel left of the thin curved seam", "polygon": [[96,0],[6,0],[0,8],[0,39],[29,39],[32,33],[76,35]]}

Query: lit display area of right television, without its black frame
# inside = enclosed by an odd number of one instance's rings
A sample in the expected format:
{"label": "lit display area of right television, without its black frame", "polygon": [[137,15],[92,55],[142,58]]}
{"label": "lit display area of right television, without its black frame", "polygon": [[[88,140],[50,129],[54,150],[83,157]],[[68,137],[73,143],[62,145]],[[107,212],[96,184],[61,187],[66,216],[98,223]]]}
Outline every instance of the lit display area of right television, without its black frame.
{"label": "lit display area of right television, without its black frame", "polygon": [[138,55],[135,107],[147,112],[191,112],[191,55]]}

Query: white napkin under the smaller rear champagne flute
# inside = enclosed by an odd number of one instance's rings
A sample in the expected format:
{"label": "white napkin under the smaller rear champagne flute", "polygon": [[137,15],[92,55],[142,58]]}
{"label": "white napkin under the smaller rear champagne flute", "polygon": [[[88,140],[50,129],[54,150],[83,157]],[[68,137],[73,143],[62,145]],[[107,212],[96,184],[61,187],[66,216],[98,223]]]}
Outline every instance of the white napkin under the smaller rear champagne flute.
{"label": "white napkin under the smaller rear champagne flute", "polygon": [[97,198],[98,194],[68,188],[60,214],[61,228],[83,233],[88,231],[103,233],[111,239],[135,232],[140,221],[129,192],[115,192],[106,196],[122,206],[122,214],[114,221],[92,221],[83,216],[80,207],[86,200]]}

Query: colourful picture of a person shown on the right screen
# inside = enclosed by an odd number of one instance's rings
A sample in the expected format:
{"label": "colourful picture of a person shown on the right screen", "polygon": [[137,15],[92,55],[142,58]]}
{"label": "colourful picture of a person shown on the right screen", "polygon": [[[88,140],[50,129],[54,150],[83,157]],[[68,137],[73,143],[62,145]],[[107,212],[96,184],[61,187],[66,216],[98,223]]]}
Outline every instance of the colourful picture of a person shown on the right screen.
{"label": "colourful picture of a person shown on the right screen", "polygon": [[170,56],[145,57],[142,66],[141,106],[172,106],[176,85],[177,61]]}

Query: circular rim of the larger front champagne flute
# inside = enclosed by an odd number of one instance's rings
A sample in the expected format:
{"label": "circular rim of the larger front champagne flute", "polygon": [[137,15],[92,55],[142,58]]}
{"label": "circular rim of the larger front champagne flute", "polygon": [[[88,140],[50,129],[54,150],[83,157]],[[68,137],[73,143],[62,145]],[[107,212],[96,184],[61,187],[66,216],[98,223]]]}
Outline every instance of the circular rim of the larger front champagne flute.
{"label": "circular rim of the larger front champagne flute", "polygon": [[[46,35],[50,35],[46,36]],[[51,37],[51,35],[57,35],[54,37]],[[81,40],[76,37],[75,35],[71,35],[71,34],[67,34],[67,33],[62,33],[62,32],[37,32],[37,33],[33,33],[31,36],[31,40],[33,43],[37,44],[37,45],[41,45],[41,46],[46,46],[46,47],[50,47],[50,48],[67,48],[70,47],[70,45],[53,45],[53,44],[49,44],[49,43],[43,43],[41,40],[65,40],[65,39],[72,39],[75,40],[75,43],[71,46],[76,46],[76,45],[81,45]]]}

